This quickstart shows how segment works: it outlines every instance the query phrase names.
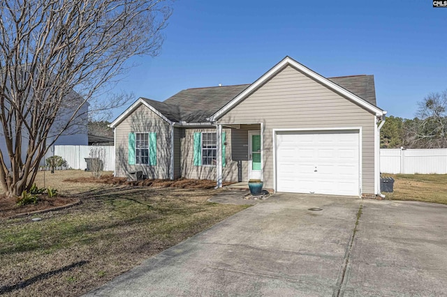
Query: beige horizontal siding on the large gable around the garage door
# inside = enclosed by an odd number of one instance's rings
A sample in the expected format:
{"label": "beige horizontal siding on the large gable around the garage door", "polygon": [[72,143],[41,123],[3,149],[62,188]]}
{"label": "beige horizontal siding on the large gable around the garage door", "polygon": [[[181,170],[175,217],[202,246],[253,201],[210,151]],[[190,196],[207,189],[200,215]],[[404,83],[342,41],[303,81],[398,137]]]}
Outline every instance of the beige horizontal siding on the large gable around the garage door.
{"label": "beige horizontal siding on the large gable around the garage door", "polygon": [[361,127],[362,192],[374,193],[374,114],[291,66],[233,107],[218,123],[263,123],[265,188],[273,188],[273,129]]}

